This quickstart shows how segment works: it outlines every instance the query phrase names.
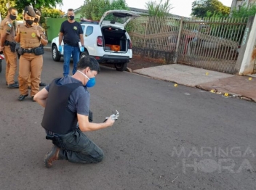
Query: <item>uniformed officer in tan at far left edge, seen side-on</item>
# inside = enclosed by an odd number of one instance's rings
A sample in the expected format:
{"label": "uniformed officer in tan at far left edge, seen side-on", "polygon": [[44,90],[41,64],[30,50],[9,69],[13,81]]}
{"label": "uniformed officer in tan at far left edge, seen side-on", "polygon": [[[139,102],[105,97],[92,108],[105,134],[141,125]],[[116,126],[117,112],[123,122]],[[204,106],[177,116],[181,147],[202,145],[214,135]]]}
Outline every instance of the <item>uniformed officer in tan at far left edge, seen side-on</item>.
{"label": "uniformed officer in tan at far left edge, seen side-on", "polygon": [[15,28],[12,22],[17,18],[17,9],[10,7],[8,9],[7,17],[1,21],[1,46],[0,51],[4,51],[6,66],[5,78],[8,88],[19,88],[15,82],[15,73],[17,70],[17,54],[15,53]]}

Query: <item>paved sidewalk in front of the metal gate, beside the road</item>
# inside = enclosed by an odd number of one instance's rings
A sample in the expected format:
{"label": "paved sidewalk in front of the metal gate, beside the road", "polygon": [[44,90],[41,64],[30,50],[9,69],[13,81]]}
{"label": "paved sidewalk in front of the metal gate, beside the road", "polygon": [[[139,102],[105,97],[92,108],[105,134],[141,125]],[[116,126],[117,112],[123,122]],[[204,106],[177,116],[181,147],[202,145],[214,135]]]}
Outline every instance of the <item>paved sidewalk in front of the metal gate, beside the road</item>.
{"label": "paved sidewalk in front of the metal gate, beside the road", "polygon": [[132,72],[256,102],[256,78],[254,75],[230,75],[177,64],[148,67]]}

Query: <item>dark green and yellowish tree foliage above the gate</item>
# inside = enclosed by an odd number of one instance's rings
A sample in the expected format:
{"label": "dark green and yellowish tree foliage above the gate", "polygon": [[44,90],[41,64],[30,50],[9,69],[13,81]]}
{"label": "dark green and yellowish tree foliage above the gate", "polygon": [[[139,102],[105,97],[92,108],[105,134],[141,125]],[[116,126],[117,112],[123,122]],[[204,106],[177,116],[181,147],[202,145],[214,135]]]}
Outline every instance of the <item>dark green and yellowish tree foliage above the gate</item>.
{"label": "dark green and yellowish tree foliage above the gate", "polygon": [[194,17],[227,16],[229,13],[230,7],[223,5],[218,0],[197,0],[192,3],[191,15]]}

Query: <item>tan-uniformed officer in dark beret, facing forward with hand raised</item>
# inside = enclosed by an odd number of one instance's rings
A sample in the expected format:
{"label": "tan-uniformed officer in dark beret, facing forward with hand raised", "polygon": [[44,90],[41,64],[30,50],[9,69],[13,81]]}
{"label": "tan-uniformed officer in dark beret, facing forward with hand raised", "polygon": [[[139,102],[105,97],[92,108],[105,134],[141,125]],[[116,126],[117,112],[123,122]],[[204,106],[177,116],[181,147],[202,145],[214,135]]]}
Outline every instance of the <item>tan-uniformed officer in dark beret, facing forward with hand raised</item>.
{"label": "tan-uniformed officer in dark beret, facing forward with hand raised", "polygon": [[[32,7],[24,9],[25,24],[17,28],[16,41],[20,42],[20,67],[19,67],[19,90],[18,100],[23,101],[28,96],[28,76],[31,73],[31,99],[39,91],[41,69],[43,66],[44,47],[48,41],[43,30],[33,25],[36,17]],[[43,45],[43,46],[41,46]]]}

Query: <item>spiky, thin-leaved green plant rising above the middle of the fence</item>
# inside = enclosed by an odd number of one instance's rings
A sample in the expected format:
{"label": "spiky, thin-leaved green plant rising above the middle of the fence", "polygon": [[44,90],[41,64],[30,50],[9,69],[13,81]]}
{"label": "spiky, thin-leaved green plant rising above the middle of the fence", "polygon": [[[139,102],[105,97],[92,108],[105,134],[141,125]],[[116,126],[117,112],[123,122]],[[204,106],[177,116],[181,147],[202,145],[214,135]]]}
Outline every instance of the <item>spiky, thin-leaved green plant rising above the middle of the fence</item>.
{"label": "spiky, thin-leaved green plant rising above the middle of the fence", "polygon": [[164,17],[169,15],[169,11],[172,9],[172,4],[170,4],[169,0],[164,3],[163,0],[148,1],[145,4],[150,16]]}

